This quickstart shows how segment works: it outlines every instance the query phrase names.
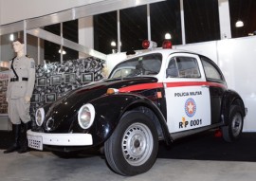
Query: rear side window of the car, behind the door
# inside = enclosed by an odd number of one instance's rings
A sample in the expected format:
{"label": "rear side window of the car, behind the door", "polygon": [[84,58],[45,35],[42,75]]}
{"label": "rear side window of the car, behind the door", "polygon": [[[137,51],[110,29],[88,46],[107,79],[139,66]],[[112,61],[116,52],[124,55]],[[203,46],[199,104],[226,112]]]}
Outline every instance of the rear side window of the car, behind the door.
{"label": "rear side window of the car, behind the door", "polygon": [[207,61],[207,58],[202,57],[201,60],[205,69],[207,79],[223,81],[221,73],[213,64]]}

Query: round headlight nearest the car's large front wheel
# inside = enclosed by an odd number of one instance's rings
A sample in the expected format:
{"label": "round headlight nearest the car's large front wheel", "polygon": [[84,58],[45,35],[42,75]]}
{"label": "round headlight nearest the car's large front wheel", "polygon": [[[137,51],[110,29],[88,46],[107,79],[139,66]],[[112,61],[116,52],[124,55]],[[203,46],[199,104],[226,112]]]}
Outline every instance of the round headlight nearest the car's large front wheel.
{"label": "round headlight nearest the car's large front wheel", "polygon": [[86,103],[82,105],[78,114],[79,125],[83,129],[87,129],[92,125],[94,118],[95,118],[94,106],[90,103]]}

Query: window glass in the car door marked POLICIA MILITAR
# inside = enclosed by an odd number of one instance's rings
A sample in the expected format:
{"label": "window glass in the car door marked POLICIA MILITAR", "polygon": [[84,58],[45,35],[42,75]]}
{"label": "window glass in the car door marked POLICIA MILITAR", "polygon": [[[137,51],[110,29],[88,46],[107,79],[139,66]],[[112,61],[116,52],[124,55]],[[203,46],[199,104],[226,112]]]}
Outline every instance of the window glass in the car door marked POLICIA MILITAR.
{"label": "window glass in the car door marked POLICIA MILITAR", "polygon": [[171,78],[200,78],[198,64],[192,57],[174,57],[170,60],[167,77]]}

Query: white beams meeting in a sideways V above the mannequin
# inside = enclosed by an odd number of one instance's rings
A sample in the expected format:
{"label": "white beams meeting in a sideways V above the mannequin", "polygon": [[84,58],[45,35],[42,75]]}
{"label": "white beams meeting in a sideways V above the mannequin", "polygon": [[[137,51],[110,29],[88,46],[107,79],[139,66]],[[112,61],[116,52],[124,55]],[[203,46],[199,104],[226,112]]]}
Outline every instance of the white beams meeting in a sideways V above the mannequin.
{"label": "white beams meeting in a sideways V above the mannequin", "polygon": [[[67,9],[61,12],[53,13],[50,15],[31,18],[24,21],[12,23],[9,25],[0,26],[0,35],[14,33],[24,30],[28,34],[42,38],[49,42],[53,42],[58,45],[64,45],[71,49],[77,50],[89,54],[91,56],[105,60],[106,55],[93,50],[91,48],[79,45],[77,43],[71,42],[64,39],[61,36],[50,33],[39,27],[46,27],[53,24],[63,23],[70,20],[79,19],[86,16],[92,16],[96,14],[101,14],[104,12],[109,12],[118,9],[127,9],[132,7],[137,7],[141,5],[156,3],[164,0],[105,0],[98,3],[85,5],[78,8]],[[26,25],[26,26],[25,26]]]}

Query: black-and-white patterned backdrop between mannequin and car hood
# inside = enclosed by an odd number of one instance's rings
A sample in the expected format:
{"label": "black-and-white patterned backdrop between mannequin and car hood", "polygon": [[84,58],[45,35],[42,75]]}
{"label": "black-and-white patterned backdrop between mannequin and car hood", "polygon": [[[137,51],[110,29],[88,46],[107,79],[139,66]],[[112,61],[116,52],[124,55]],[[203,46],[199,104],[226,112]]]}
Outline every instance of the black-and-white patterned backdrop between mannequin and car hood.
{"label": "black-and-white patterned backdrop between mannequin and car hood", "polygon": [[104,63],[103,60],[88,57],[64,63],[38,65],[30,106],[32,120],[34,120],[35,111],[38,107],[58,100],[68,91],[86,83],[101,80]]}

